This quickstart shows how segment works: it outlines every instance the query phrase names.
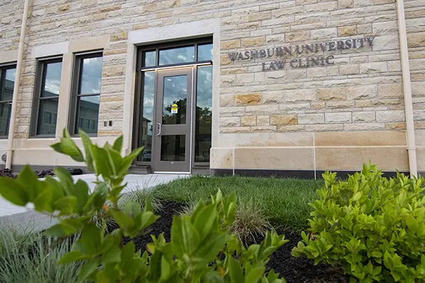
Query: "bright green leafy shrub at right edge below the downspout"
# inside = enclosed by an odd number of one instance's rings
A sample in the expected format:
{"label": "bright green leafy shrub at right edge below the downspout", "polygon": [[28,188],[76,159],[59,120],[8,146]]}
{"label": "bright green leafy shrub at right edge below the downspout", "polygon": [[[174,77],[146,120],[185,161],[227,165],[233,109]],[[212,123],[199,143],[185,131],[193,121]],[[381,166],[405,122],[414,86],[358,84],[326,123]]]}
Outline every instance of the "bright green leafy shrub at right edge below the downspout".
{"label": "bright green leafy shrub at right edge below the downspout", "polygon": [[383,178],[370,164],[344,182],[323,178],[311,234],[302,232],[293,255],[339,262],[353,282],[425,282],[424,178]]}

